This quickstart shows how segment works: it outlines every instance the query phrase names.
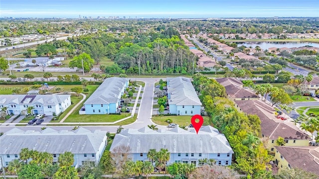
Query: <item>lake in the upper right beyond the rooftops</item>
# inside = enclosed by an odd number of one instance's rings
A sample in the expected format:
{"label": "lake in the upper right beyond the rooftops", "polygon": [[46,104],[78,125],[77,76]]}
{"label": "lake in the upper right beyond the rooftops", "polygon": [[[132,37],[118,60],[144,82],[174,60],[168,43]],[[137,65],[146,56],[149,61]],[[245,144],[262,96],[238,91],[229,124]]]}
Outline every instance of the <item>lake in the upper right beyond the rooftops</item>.
{"label": "lake in the upper right beyond the rooftops", "polygon": [[293,47],[303,47],[306,45],[310,45],[313,47],[318,47],[319,48],[319,43],[312,43],[312,42],[236,42],[238,44],[238,47],[244,45],[246,47],[252,46],[255,48],[256,46],[259,46],[262,49],[269,49],[271,47],[276,47],[276,48],[282,48],[282,47],[287,47],[287,48],[293,48]]}

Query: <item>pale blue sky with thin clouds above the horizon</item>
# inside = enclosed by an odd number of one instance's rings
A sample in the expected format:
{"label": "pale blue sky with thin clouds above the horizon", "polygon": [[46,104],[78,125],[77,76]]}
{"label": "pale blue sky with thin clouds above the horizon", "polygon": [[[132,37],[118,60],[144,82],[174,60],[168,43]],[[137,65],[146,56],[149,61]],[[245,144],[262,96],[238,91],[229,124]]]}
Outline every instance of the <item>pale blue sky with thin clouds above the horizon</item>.
{"label": "pale blue sky with thin clouds above the horizon", "polygon": [[0,0],[0,17],[319,16],[319,0]]}

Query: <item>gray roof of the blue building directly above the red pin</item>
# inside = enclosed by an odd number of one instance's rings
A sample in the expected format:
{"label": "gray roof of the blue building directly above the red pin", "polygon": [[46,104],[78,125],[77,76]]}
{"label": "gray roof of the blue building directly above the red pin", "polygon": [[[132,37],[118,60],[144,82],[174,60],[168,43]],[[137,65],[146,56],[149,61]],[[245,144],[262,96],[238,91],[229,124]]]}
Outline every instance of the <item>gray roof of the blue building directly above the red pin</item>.
{"label": "gray roof of the blue building directly above the red pin", "polygon": [[170,93],[168,104],[201,105],[189,78],[167,78],[166,81],[169,82],[169,85],[167,86],[167,93]]}

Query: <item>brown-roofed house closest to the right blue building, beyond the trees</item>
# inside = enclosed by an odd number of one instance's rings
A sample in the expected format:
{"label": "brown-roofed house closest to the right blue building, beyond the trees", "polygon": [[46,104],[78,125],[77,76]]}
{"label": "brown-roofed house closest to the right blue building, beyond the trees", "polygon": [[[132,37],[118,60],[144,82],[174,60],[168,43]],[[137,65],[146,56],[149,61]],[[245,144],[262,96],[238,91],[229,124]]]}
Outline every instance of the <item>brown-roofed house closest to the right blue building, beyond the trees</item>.
{"label": "brown-roofed house closest to the right blue building, beyond the trees", "polygon": [[254,100],[258,96],[249,89],[243,88],[243,83],[236,78],[218,78],[215,79],[226,89],[226,95],[231,100]]}

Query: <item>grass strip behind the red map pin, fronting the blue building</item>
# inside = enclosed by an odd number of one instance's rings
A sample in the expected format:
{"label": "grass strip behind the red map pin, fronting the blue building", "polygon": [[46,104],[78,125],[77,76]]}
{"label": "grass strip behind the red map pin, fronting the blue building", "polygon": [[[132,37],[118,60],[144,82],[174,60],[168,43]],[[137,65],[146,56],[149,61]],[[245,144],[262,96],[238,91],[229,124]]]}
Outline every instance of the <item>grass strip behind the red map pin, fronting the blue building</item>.
{"label": "grass strip behind the red map pin, fronting the blue building", "polygon": [[[203,125],[209,125],[209,117],[203,116],[203,118],[204,118]],[[168,125],[168,123],[165,122],[165,120],[167,119],[172,119],[173,120],[172,123],[175,123],[178,125],[189,125],[191,116],[153,116],[152,117],[153,122],[159,125]]]}

